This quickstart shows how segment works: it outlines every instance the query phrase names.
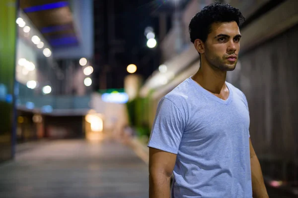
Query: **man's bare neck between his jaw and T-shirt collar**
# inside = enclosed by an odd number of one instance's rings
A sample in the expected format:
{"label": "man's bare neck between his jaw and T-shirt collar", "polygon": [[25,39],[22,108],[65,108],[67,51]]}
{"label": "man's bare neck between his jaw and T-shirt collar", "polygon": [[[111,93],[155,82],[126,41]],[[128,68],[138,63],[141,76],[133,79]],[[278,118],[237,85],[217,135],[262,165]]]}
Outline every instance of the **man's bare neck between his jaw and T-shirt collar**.
{"label": "man's bare neck between his jaw and T-shirt collar", "polygon": [[206,59],[201,61],[199,71],[192,77],[204,89],[214,94],[220,94],[226,89],[226,71],[222,71],[211,65]]}

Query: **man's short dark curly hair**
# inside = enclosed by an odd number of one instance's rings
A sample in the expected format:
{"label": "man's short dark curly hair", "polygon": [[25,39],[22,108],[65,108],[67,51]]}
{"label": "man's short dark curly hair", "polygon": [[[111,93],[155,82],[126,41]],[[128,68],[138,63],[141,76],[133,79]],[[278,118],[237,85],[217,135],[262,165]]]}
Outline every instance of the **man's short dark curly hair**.
{"label": "man's short dark curly hair", "polygon": [[191,19],[189,23],[190,40],[194,43],[196,39],[200,39],[205,43],[213,23],[235,21],[240,27],[244,20],[245,18],[238,8],[220,2],[212,3]]}

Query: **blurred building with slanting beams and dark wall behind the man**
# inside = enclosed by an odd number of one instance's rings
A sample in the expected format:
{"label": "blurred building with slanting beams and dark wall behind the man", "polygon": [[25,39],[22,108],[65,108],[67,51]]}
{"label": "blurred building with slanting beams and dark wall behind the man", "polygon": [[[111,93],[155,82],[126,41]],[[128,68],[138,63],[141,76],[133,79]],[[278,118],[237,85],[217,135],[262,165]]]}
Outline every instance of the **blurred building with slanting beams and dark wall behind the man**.
{"label": "blurred building with slanting beams and dark wall behind the man", "polygon": [[[160,44],[162,65],[140,91],[140,123],[152,126],[159,100],[199,69],[200,59],[190,42],[188,25],[192,16],[211,2],[189,0],[184,9],[173,14],[173,25]],[[264,176],[268,181],[297,184],[298,1],[225,2],[238,7],[246,18],[240,29],[239,62],[228,72],[227,81],[247,97],[251,140]]]}

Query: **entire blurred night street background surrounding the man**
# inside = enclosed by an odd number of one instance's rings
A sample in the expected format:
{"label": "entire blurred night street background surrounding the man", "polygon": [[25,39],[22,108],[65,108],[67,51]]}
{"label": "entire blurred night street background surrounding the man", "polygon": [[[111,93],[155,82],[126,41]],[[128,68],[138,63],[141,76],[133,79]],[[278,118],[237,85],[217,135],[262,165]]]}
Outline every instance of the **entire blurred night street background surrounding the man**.
{"label": "entire blurred night street background surrounding the man", "polygon": [[[148,198],[158,101],[199,69],[214,0],[0,0],[0,198]],[[246,22],[244,92],[270,198],[298,197],[298,1],[221,0]]]}

